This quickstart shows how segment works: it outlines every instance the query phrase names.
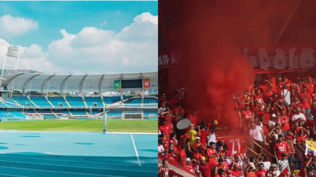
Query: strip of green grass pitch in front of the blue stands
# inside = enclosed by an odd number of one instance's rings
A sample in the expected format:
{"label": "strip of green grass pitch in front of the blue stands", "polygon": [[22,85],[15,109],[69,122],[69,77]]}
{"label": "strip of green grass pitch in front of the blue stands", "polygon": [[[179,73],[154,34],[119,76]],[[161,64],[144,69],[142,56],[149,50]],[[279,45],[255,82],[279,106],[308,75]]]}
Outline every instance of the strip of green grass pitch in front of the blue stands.
{"label": "strip of green grass pitch in front of the blue stands", "polygon": [[[111,132],[157,133],[154,120],[108,120]],[[32,120],[1,122],[2,130],[103,132],[103,120]]]}

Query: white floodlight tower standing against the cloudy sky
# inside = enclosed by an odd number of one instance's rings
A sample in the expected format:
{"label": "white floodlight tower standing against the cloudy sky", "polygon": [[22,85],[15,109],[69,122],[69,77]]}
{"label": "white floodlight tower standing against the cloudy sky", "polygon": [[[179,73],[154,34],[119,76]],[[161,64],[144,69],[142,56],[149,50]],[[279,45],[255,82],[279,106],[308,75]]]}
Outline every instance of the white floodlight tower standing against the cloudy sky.
{"label": "white floodlight tower standing against the cloudy sky", "polygon": [[[4,73],[5,66],[11,66],[11,67],[14,68],[14,70],[16,70],[17,67],[18,67],[19,55],[20,55],[20,48],[19,47],[9,46],[7,48],[7,52],[4,54],[2,73],[1,73],[1,76],[0,76],[1,77],[0,78],[0,86],[1,86],[2,80],[3,80],[2,76],[3,76],[3,73]],[[14,65],[12,65],[12,64],[7,65],[6,64],[7,60],[13,60],[15,64]]]}

